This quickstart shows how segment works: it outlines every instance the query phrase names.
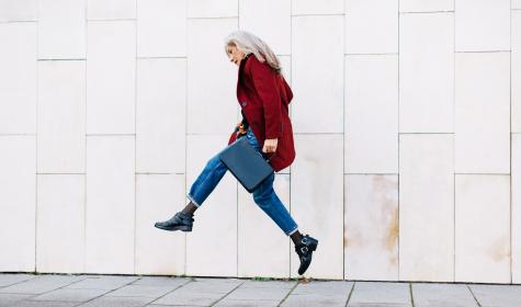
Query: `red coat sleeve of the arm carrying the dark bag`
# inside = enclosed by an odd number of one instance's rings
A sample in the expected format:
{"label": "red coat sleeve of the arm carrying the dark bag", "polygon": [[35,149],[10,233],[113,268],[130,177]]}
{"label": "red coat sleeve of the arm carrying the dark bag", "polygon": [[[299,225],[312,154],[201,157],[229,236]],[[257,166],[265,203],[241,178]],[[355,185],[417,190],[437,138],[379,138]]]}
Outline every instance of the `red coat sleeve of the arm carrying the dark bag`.
{"label": "red coat sleeve of the arm carrying the dark bag", "polygon": [[279,138],[282,136],[282,102],[276,82],[279,76],[267,62],[260,62],[257,58],[251,60],[249,75],[262,100],[265,138]]}

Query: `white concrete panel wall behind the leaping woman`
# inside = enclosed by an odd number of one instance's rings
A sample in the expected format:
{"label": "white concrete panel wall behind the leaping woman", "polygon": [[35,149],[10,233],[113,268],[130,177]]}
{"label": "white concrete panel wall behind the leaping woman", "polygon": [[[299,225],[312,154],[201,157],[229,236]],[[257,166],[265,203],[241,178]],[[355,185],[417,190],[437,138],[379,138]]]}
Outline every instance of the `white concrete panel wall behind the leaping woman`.
{"label": "white concrete panel wall behind the leaping woman", "polygon": [[307,276],[521,283],[520,0],[0,0],[0,271],[297,276],[230,173],[154,228],[240,120],[237,29],[295,94]]}

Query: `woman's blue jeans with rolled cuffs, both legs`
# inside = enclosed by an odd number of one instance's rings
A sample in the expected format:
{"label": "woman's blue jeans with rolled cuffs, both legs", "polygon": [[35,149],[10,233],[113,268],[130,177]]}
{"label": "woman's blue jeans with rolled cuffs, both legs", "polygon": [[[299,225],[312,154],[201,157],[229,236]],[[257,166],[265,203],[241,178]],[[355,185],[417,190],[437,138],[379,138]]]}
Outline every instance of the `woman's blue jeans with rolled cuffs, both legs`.
{"label": "woman's blue jeans with rolled cuffs, both legs", "polygon": [[[246,137],[251,146],[262,152],[262,148],[260,148],[251,128],[248,128],[246,136],[242,137]],[[192,187],[190,187],[190,192],[186,194],[186,197],[192,201],[196,207],[200,207],[203,204],[228,170],[220,161],[218,157],[219,154],[215,155],[206,162],[203,171],[192,184]],[[279,196],[276,196],[275,191],[273,190],[274,179],[275,174],[272,173],[252,192],[253,201],[271,217],[271,219],[273,219],[273,221],[275,221],[285,235],[290,236],[298,229],[298,226],[295,220],[293,220]]]}

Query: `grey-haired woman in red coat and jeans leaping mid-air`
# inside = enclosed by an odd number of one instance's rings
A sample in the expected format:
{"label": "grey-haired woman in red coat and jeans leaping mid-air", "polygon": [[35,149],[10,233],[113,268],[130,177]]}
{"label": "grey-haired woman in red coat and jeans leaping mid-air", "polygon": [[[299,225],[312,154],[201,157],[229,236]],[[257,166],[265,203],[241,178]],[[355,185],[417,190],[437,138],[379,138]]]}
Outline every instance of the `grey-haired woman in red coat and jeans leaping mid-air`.
{"label": "grey-haired woman in red coat and jeans leaping mid-air", "polygon": [[[270,164],[275,172],[288,167],[295,158],[288,104],[293,93],[281,73],[279,59],[271,48],[256,35],[236,31],[225,39],[225,50],[238,69],[237,99],[242,122],[238,123],[228,145],[246,137],[261,155],[273,155]],[[259,143],[259,140],[261,140]],[[261,149],[262,148],[262,149]],[[219,152],[220,154],[220,152]],[[218,155],[208,160],[186,197],[190,203],[169,220],[156,223],[165,230],[192,231],[193,215],[227,171]],[[298,274],[312,262],[318,240],[298,231],[295,220],[273,190],[275,174],[268,177],[252,194],[256,204],[290,236],[301,260]]]}

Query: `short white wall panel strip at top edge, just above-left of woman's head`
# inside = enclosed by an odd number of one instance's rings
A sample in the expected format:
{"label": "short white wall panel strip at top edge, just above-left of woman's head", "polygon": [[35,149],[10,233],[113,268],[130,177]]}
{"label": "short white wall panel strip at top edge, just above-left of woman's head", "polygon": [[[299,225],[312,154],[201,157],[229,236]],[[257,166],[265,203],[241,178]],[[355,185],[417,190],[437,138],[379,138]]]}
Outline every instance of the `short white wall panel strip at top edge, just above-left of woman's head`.
{"label": "short white wall panel strip at top edge, just above-left of woman's head", "polygon": [[188,0],[189,18],[237,16],[239,0]]}

